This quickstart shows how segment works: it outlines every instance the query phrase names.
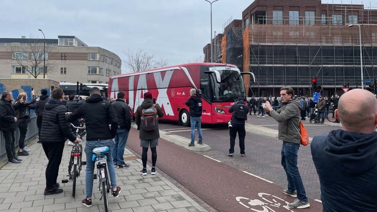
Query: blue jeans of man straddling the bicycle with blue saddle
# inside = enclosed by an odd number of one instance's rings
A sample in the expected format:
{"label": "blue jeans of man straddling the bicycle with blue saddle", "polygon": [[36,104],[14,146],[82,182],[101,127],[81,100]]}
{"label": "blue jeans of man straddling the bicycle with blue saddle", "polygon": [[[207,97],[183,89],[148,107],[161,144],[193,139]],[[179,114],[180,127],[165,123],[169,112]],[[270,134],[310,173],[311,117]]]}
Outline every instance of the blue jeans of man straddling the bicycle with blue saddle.
{"label": "blue jeans of man straddling the bicycle with blue saddle", "polygon": [[[106,154],[108,162],[108,173],[110,175],[111,187],[116,187],[116,176],[114,163],[112,162],[112,150],[114,148],[115,142],[111,140],[102,140],[102,141],[86,141],[85,145],[85,155],[86,155],[86,172],[85,172],[85,189],[86,189],[86,198],[92,196],[93,191],[93,172],[94,172],[94,163],[92,161],[93,149],[96,147],[107,146],[109,148],[108,154]],[[98,177],[98,176],[97,176]]]}

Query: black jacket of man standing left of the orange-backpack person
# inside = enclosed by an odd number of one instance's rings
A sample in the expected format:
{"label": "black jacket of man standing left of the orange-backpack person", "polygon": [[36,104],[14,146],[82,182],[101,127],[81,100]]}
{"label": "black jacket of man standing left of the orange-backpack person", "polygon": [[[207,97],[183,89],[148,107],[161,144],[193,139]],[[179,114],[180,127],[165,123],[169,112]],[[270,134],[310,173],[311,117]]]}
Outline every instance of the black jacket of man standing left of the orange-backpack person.
{"label": "black jacket of man standing left of the orange-backpack person", "polygon": [[118,128],[131,130],[130,107],[123,100],[115,100],[111,105],[118,118]]}

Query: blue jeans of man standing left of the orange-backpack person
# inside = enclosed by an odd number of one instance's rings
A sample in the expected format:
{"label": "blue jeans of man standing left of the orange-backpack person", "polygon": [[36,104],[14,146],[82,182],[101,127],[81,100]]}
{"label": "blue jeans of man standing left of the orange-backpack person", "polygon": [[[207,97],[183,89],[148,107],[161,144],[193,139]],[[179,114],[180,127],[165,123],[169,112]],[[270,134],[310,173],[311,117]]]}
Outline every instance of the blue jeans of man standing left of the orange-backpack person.
{"label": "blue jeans of man standing left of the orange-backpack person", "polygon": [[124,148],[126,147],[127,139],[128,139],[128,131],[127,129],[118,129],[115,134],[115,146],[112,151],[112,161],[114,164],[123,165],[124,159]]}

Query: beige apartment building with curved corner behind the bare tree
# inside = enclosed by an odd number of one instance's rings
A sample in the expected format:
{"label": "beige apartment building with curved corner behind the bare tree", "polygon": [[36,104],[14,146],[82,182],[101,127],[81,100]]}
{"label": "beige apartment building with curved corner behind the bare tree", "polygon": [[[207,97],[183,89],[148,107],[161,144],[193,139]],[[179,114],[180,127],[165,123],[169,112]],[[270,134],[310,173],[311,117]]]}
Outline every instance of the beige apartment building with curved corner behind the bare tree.
{"label": "beige apartment building with curved corner behind the bare tree", "polygon": [[0,78],[107,84],[110,76],[118,74],[118,55],[101,47],[89,47],[75,36],[45,40],[0,38]]}

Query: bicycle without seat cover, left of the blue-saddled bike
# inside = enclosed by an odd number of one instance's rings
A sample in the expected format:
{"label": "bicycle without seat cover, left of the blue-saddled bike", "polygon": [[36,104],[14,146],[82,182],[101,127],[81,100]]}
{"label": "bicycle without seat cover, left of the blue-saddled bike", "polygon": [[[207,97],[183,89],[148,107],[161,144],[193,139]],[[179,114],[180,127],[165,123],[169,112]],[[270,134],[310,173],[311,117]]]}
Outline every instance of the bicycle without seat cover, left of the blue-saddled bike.
{"label": "bicycle without seat cover, left of the blue-saddled bike", "polygon": [[[75,129],[77,129],[78,137],[82,140],[82,137],[86,134],[85,126],[82,122],[82,127],[76,127],[71,123],[71,126],[73,126]],[[75,144],[72,147],[71,155],[69,158],[68,163],[68,175],[69,179],[63,179],[61,180],[61,183],[65,184],[69,181],[72,181],[72,196],[75,197],[76,195],[76,180],[80,176],[81,167],[83,165],[86,165],[86,161],[81,161],[82,157],[82,146],[81,144]]]}

